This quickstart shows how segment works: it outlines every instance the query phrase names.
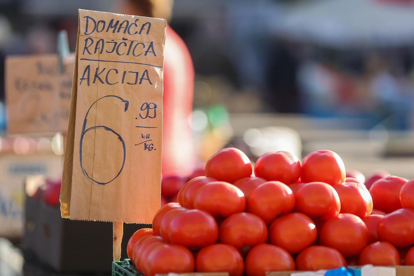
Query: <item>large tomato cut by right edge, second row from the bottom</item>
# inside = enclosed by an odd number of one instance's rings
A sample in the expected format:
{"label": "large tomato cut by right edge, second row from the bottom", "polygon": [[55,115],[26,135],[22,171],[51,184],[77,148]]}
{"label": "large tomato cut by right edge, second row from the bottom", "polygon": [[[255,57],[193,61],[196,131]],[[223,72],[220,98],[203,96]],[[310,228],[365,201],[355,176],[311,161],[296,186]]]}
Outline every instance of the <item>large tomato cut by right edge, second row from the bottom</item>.
{"label": "large tomato cut by right edge, second row from the bottom", "polygon": [[414,244],[414,210],[398,209],[386,214],[378,223],[378,237],[396,247]]}

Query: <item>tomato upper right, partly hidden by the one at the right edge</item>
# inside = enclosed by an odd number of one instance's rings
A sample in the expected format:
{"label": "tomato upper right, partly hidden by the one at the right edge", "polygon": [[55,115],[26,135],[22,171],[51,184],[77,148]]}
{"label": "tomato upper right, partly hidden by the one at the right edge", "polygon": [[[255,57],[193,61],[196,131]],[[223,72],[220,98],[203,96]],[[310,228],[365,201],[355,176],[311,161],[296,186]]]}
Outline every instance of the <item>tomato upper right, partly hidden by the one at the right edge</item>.
{"label": "tomato upper right, partly hidden by the one at the right edge", "polygon": [[400,209],[400,191],[407,181],[405,178],[394,175],[375,181],[369,188],[374,209],[384,211],[387,214]]}

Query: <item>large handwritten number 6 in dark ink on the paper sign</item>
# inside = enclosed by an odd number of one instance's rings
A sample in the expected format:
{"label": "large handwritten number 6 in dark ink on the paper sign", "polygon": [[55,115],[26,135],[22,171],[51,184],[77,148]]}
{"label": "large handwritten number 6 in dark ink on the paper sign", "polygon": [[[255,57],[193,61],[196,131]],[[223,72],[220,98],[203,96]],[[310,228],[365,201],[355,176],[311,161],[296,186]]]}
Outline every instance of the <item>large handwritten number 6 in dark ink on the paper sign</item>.
{"label": "large handwritten number 6 in dark ink on the paper sign", "polygon": [[[124,100],[121,97],[114,96],[114,95],[108,95],[108,96],[103,96],[102,98],[97,99],[94,103],[91,104],[91,106],[89,107],[89,109],[88,109],[88,111],[87,111],[87,113],[85,115],[85,119],[83,120],[82,132],[80,134],[80,142],[79,142],[79,162],[80,162],[80,167],[82,168],[82,173],[84,174],[84,176],[88,180],[90,180],[92,182],[95,182],[96,184],[99,184],[99,185],[105,185],[105,184],[108,184],[109,182],[112,182],[113,180],[115,180],[120,175],[120,173],[122,172],[122,169],[124,168],[124,165],[125,165],[125,142],[124,142],[124,140],[122,139],[122,137],[117,132],[115,132],[113,129],[111,129],[109,127],[106,127],[104,125],[96,125],[96,126],[89,127],[88,129],[86,129],[87,117],[88,117],[89,111],[91,110],[92,106],[94,106],[94,104],[97,103],[99,100],[101,100],[103,98],[107,98],[107,97],[115,97],[115,98],[120,99],[122,103],[125,103],[125,110],[124,110],[124,112],[128,110],[129,102],[126,101],[126,100]],[[119,141],[122,143],[122,147],[123,147],[123,150],[124,150],[123,151],[122,167],[120,168],[120,170],[118,171],[118,173],[116,174],[116,176],[114,178],[112,178],[111,180],[109,180],[108,182],[99,182],[99,181],[94,180],[93,178],[91,178],[88,175],[87,171],[83,168],[83,165],[82,165],[82,144],[83,144],[83,138],[84,138],[85,134],[89,130],[95,130],[95,129],[103,129],[103,130],[106,130],[106,131],[109,131],[109,132],[112,132],[113,134],[115,134],[116,137],[117,137],[117,139],[119,139]]]}

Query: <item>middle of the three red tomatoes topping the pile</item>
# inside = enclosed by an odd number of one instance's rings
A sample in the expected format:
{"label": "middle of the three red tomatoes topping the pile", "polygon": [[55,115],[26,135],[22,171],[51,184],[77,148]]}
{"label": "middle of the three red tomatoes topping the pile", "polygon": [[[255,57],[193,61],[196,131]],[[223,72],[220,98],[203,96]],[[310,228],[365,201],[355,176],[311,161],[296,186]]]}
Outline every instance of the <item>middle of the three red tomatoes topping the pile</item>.
{"label": "middle of the three red tomatoes topping the pile", "polygon": [[286,185],[298,181],[301,175],[301,163],[287,151],[268,152],[255,163],[255,176],[267,181],[280,181]]}

